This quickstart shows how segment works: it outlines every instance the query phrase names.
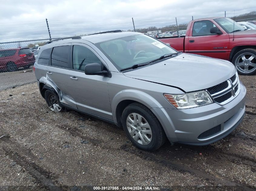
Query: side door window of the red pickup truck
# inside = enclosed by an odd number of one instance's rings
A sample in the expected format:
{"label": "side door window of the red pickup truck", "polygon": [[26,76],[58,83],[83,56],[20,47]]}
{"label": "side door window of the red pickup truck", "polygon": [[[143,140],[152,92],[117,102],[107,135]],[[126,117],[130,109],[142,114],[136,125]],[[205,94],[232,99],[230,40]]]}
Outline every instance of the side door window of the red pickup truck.
{"label": "side door window of the red pickup truck", "polygon": [[210,29],[216,27],[211,21],[196,21],[194,22],[192,36],[215,35],[210,33]]}

